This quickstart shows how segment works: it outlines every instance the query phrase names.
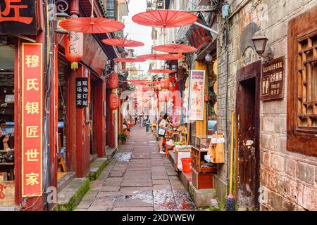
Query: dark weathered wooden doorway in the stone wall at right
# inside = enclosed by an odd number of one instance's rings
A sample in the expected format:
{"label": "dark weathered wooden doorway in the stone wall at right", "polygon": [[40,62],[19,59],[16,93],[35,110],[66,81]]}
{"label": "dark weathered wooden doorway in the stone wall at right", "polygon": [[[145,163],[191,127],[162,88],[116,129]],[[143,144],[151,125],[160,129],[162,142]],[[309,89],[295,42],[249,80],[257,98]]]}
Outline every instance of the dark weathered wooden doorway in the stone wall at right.
{"label": "dark weathered wooden doorway in the stone wall at right", "polygon": [[261,61],[237,72],[237,203],[242,210],[259,210],[260,80]]}

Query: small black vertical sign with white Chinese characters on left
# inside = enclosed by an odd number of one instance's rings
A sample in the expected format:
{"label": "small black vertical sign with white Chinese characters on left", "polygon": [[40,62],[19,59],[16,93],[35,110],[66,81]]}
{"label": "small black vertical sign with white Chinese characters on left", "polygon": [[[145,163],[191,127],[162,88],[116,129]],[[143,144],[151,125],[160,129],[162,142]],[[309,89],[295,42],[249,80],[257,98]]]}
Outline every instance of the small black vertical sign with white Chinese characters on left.
{"label": "small black vertical sign with white Chinese characters on left", "polygon": [[88,77],[76,78],[76,107],[88,107]]}

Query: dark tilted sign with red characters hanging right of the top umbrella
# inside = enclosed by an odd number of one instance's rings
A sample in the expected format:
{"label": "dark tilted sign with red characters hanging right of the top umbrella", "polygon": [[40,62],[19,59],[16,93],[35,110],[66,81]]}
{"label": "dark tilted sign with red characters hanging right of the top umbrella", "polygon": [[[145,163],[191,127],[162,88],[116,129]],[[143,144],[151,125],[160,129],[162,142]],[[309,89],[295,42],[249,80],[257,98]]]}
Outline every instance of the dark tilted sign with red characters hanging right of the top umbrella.
{"label": "dark tilted sign with red characters hanging right of the top umbrella", "polygon": [[[197,23],[207,26],[201,15],[198,16]],[[186,33],[186,38],[191,46],[198,49],[211,39],[211,32],[193,24]]]}

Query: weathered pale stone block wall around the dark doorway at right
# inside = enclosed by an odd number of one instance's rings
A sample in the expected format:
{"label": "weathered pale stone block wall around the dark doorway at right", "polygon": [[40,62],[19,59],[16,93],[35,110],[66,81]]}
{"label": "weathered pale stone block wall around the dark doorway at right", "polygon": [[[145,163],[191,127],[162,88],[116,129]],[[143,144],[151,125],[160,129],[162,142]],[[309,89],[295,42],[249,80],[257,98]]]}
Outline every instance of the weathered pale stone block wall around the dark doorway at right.
{"label": "weathered pale stone block wall around the dark doorway at right", "polygon": [[[232,1],[230,12],[241,6],[241,2],[241,0]],[[229,20],[228,73],[227,46],[223,37],[223,26],[221,27],[218,38],[219,131],[225,132],[227,74],[228,129],[230,129],[230,113],[235,111],[236,72],[244,65],[258,60],[254,53],[249,53],[251,56],[249,58],[243,57],[247,48],[243,43],[248,41],[242,39],[246,37],[242,35],[243,32],[249,28],[250,23],[255,23],[268,37],[266,48],[271,47],[274,58],[280,56],[287,58],[288,21],[316,5],[317,0],[249,1]],[[260,105],[261,188],[268,197],[263,198],[261,210],[317,210],[317,158],[291,153],[286,149],[287,60],[285,67],[284,99],[261,101]],[[230,130],[228,137],[230,138]],[[228,162],[227,158],[226,162]],[[223,186],[227,184],[227,174],[226,163],[219,168],[216,183]]]}

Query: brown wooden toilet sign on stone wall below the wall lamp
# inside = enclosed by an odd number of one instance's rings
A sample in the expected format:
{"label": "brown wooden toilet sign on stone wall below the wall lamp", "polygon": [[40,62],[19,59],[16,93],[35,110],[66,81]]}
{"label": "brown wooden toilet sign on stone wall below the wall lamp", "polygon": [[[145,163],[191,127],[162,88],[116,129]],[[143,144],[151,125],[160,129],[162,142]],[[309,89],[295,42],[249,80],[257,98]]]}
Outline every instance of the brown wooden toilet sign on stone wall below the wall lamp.
{"label": "brown wooden toilet sign on stone wall below the wall lamp", "polygon": [[284,96],[284,56],[264,63],[261,77],[261,101],[281,99]]}

